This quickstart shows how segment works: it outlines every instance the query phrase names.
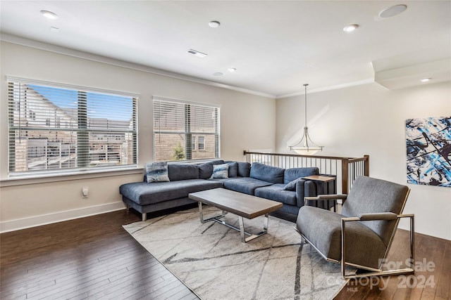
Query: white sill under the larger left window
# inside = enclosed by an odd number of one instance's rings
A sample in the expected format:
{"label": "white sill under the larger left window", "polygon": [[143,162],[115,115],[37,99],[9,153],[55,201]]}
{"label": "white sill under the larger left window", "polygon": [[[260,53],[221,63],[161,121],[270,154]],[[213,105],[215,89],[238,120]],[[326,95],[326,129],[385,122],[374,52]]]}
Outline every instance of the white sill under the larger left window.
{"label": "white sill under the larger left window", "polygon": [[29,185],[38,183],[49,183],[58,181],[73,181],[89,178],[101,178],[111,176],[123,176],[130,174],[142,174],[142,167],[130,167],[124,169],[104,169],[104,170],[89,170],[89,171],[75,171],[71,173],[54,173],[54,174],[39,174],[24,175],[12,178],[2,178],[0,180],[0,188],[15,185]]}

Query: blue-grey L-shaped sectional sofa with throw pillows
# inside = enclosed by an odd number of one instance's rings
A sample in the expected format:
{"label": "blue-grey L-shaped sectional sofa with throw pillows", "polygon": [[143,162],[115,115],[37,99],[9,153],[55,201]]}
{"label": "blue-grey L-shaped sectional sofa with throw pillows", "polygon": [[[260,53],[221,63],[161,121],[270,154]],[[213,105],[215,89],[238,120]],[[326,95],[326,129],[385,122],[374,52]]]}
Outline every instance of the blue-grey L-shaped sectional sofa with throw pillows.
{"label": "blue-grey L-shaped sectional sofa with throw pillows", "polygon": [[304,197],[314,197],[322,190],[320,183],[302,178],[318,174],[316,167],[283,169],[258,162],[251,165],[221,159],[202,164],[157,162],[146,165],[142,182],[125,183],[119,193],[128,208],[142,214],[142,221],[149,212],[195,203],[188,194],[212,188],[282,202],[280,211],[296,217],[304,205]]}

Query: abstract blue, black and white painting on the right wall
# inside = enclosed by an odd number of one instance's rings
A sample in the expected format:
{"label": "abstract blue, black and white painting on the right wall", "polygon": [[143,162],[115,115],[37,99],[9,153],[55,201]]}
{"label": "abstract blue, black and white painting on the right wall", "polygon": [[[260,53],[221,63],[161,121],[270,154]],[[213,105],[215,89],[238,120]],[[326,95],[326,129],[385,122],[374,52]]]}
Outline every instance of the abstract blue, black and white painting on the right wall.
{"label": "abstract blue, black and white painting on the right wall", "polygon": [[451,187],[451,117],[406,120],[407,183]]}

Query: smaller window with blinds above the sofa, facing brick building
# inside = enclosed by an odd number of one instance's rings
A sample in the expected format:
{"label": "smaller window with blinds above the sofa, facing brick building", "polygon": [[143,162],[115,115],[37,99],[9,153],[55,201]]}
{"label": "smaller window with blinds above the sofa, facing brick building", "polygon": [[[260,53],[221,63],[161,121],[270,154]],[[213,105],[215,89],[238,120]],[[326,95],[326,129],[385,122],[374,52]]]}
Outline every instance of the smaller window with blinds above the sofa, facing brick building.
{"label": "smaller window with blinds above the sofa, facing brick building", "polygon": [[[196,145],[197,149],[202,151],[193,151]],[[219,107],[154,97],[156,162],[217,157],[219,157]]]}

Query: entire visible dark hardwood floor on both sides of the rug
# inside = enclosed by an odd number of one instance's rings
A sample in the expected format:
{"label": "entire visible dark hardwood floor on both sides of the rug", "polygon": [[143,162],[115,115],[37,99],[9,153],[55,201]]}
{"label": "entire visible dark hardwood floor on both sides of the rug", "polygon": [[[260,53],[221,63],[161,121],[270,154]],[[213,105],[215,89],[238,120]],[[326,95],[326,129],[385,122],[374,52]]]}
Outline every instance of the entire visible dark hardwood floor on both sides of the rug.
{"label": "entire visible dark hardwood floor on both sides of the rug", "polygon": [[[1,234],[0,299],[198,299],[123,230],[135,221],[115,211]],[[389,258],[404,261],[408,244],[398,230]],[[417,234],[416,259],[433,270],[350,281],[336,299],[451,299],[451,241]]]}

